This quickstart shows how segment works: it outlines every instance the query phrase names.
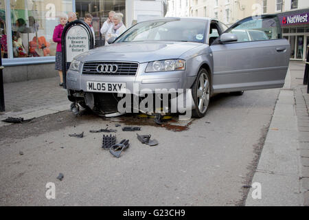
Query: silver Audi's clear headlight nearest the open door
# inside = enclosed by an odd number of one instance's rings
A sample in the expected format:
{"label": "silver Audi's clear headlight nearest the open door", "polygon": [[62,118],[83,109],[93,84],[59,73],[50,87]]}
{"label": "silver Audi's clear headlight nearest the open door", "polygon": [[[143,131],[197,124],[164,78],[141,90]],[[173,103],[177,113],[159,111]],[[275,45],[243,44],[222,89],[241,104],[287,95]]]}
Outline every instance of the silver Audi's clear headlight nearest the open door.
{"label": "silver Audi's clear headlight nearest the open door", "polygon": [[154,61],[148,63],[146,72],[164,72],[164,71],[176,71],[185,70],[185,61],[183,60],[165,60]]}

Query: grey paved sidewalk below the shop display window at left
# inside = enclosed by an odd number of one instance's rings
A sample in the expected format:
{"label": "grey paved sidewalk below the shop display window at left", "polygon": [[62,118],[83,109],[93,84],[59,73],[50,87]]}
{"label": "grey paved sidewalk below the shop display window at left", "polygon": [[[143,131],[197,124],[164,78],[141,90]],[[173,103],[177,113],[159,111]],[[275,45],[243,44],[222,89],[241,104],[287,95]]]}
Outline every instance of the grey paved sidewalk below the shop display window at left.
{"label": "grey paved sidewalk below the shop display window at left", "polygon": [[59,78],[44,78],[19,83],[4,84],[5,112],[1,122],[8,117],[38,118],[69,109],[67,90],[59,86]]}

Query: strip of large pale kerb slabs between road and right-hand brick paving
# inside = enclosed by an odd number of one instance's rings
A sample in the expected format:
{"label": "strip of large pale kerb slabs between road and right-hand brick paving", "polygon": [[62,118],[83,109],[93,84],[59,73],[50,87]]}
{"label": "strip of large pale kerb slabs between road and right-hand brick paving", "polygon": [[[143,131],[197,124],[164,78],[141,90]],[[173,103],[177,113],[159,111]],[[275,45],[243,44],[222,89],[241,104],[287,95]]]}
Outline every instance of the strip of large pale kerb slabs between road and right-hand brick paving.
{"label": "strip of large pale kerb slabs between road and right-hand brick paving", "polygon": [[290,71],[281,89],[252,185],[260,183],[261,198],[249,191],[245,206],[302,206],[299,141]]}

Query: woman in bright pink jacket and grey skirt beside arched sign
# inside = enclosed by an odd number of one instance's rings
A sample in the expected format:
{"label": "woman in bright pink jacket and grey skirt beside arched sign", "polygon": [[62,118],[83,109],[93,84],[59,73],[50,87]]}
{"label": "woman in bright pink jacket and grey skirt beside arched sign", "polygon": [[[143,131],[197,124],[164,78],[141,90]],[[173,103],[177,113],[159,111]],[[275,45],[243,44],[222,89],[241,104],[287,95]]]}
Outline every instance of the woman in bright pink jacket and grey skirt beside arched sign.
{"label": "woman in bright pink jacket and grey skirt beside arched sign", "polygon": [[68,19],[67,14],[62,14],[60,16],[60,24],[56,26],[53,34],[53,41],[57,43],[55,69],[58,70],[60,76],[60,84],[59,84],[60,86],[62,86],[63,83],[61,36],[63,29],[65,28],[65,25],[67,23],[67,19]]}

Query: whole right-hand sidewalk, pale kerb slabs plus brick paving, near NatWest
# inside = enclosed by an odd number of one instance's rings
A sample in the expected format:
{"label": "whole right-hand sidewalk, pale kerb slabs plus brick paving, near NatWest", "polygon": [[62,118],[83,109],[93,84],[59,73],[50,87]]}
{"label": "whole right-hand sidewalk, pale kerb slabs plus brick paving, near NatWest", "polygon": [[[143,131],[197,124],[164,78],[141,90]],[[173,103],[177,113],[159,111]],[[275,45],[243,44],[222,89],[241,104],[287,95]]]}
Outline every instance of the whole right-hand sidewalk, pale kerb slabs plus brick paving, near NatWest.
{"label": "whole right-hand sidewalk, pale kerb slabs plus brick paving, near NatWest", "polygon": [[290,62],[252,183],[262,186],[262,199],[246,206],[309,205],[309,94],[302,85],[305,65]]}

